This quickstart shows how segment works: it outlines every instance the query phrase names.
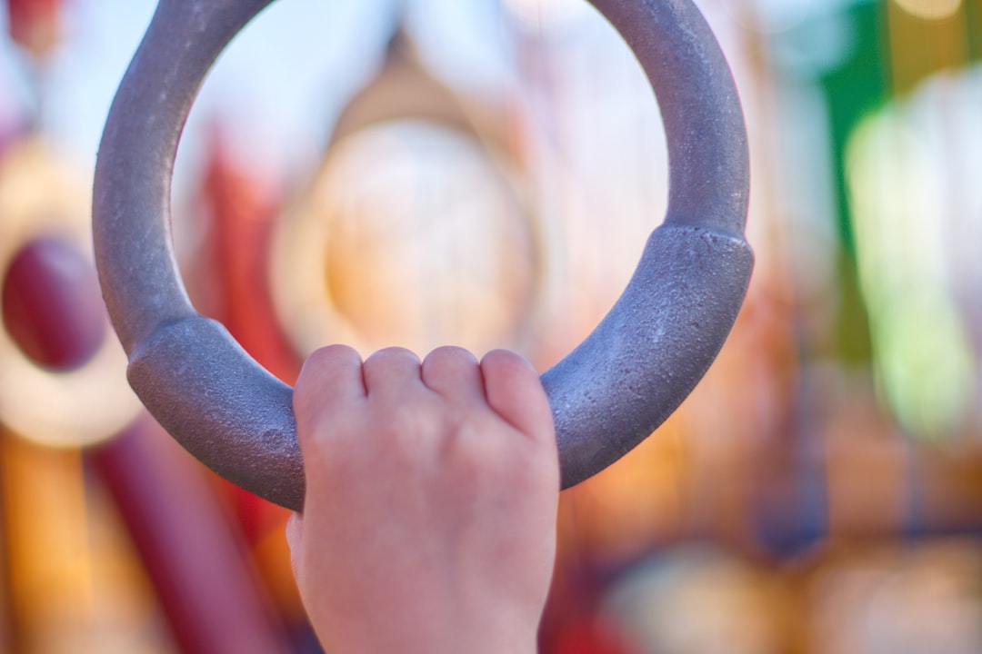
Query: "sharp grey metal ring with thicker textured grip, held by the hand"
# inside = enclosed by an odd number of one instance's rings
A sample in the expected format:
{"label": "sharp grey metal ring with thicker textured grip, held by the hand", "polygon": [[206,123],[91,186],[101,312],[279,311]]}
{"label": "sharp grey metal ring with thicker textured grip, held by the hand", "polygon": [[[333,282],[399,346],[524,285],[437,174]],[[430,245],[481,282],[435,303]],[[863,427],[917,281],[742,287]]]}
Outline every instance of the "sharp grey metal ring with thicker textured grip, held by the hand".
{"label": "sharp grey metal ring with thicker textured grip, held by the hand", "polygon": [[[204,75],[271,0],[161,0],[109,112],[95,170],[93,231],[128,376],[192,455],[299,510],[303,469],[292,389],[191,306],[170,234],[178,140]],[[591,0],[657,95],[670,197],[627,289],[542,376],[563,486],[620,459],[682,403],[736,320],[753,267],[743,238],[746,132],[730,69],[690,0]]]}

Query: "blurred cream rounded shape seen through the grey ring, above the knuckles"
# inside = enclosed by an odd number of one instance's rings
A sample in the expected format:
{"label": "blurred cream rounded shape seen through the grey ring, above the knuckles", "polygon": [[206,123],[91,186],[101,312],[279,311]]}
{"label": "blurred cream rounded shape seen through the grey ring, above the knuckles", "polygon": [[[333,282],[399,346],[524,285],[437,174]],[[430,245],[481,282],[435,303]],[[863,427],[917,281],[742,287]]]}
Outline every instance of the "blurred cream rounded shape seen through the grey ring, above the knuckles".
{"label": "blurred cream rounded shape seen through the grey ring, above the knuckles", "polygon": [[274,251],[281,324],[304,355],[443,343],[518,346],[534,235],[481,144],[419,120],[357,130],[328,153]]}

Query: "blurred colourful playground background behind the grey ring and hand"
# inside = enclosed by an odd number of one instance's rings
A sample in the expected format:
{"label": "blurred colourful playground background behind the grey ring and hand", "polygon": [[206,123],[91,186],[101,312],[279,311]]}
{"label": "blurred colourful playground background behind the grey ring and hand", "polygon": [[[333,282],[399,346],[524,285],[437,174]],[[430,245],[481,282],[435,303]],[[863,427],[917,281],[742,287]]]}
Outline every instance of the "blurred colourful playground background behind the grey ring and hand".
{"label": "blurred colourful playground background behind the grey ring and hand", "polygon": [[[0,651],[320,651],[286,511],[123,381],[88,214],[151,0],[0,12]],[[682,408],[566,491],[544,654],[982,651],[982,0],[699,0],[750,136],[757,266]],[[174,185],[195,306],[318,345],[510,347],[609,310],[667,198],[657,105],[582,0],[281,0]]]}

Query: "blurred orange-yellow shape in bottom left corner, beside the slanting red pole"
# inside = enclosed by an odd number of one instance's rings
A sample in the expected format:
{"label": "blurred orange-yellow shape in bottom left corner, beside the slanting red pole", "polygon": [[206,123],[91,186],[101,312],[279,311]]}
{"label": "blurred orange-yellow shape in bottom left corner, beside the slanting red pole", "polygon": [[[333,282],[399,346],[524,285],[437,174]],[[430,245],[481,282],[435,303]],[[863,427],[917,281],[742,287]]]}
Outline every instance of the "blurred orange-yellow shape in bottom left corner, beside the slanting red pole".
{"label": "blurred orange-yellow shape in bottom left corner, beside the slanting red pole", "polygon": [[0,429],[0,498],[12,651],[173,651],[118,517],[86,481],[80,450]]}

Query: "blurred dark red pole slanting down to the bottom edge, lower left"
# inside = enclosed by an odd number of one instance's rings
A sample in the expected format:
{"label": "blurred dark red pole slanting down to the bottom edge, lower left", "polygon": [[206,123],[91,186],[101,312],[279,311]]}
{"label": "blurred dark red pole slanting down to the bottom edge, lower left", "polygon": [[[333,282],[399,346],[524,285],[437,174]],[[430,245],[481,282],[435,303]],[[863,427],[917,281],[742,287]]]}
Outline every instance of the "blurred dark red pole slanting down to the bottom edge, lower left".
{"label": "blurred dark red pole slanting down to the bottom edge, lower left", "polygon": [[182,652],[290,651],[200,466],[148,416],[89,453],[133,536]]}

